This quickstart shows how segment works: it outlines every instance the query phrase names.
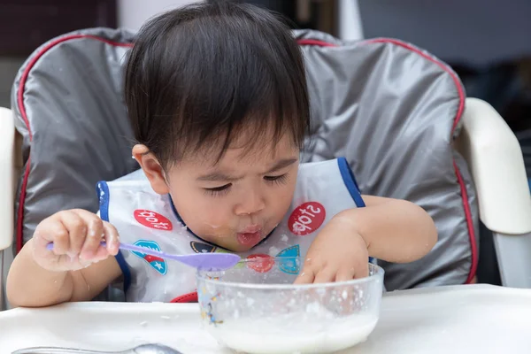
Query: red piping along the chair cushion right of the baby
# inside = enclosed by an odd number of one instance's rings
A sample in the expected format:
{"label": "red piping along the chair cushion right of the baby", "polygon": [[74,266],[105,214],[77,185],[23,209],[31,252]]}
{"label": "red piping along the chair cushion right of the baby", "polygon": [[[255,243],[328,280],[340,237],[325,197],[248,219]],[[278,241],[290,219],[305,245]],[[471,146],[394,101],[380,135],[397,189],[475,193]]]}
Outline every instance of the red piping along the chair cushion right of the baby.
{"label": "red piping along the chair cushion right of the baby", "polygon": [[[299,45],[315,45],[319,47],[336,47],[337,46],[334,43],[323,42],[323,41],[313,40],[313,39],[302,39],[297,42]],[[456,88],[458,89],[458,96],[459,96],[458,112],[456,113],[456,117],[454,118],[454,122],[452,124],[451,132],[450,132],[450,136],[453,136],[456,130],[456,127],[458,127],[459,120],[461,119],[461,116],[463,115],[463,111],[465,111],[465,92],[463,91],[463,87],[461,86],[456,73],[450,70],[450,67],[448,65],[445,65],[442,62],[436,60],[435,58],[430,57],[423,51],[413,47],[412,45],[406,42],[397,41],[395,39],[378,38],[378,39],[364,41],[363,43],[395,44],[397,46],[405,48],[406,50],[411,50],[412,52],[419,54],[420,57],[425,58],[431,61],[432,63],[435,63],[436,65],[441,67],[446,73],[450,74],[451,79],[454,81]],[[458,165],[456,164],[455,159],[452,162],[453,162],[454,172],[456,173],[456,177],[459,183],[461,199],[463,200],[463,210],[465,212],[466,227],[468,229],[468,238],[470,241],[470,250],[472,253],[472,266],[470,267],[468,277],[466,278],[466,284],[470,284],[473,281],[473,278],[475,277],[475,273],[478,267],[478,248],[477,248],[476,239],[475,239],[475,231],[473,228],[472,212],[470,211],[470,203],[468,201],[468,194],[466,193],[465,181],[463,180],[463,176],[461,175],[461,172],[459,171],[459,168],[458,168]]]}

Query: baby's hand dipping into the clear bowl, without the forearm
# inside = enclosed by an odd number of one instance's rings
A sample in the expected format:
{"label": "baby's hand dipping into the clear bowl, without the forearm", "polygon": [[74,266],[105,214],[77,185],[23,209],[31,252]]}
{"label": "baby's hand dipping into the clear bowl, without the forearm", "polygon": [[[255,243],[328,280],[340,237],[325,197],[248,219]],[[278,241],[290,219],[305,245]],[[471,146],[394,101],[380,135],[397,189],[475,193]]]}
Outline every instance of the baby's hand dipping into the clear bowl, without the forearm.
{"label": "baby's hand dipping into the clear bowl, without the forearm", "polygon": [[350,281],[369,273],[369,252],[349,219],[332,219],[306,254],[296,284]]}

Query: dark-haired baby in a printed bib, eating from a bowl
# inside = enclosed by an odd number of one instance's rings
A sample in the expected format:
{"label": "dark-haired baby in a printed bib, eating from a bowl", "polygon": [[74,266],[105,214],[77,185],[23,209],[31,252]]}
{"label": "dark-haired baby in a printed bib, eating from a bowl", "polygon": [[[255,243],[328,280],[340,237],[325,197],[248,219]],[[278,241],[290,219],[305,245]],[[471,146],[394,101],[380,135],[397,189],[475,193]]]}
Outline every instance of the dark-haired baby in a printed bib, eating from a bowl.
{"label": "dark-haired baby in a printed bib, eating from a bowl", "polygon": [[98,184],[98,214],[42,220],[10,269],[12,305],[88,301],[118,280],[127,301],[196,299],[194,269],[119,252],[119,240],[178,254],[302,256],[302,269],[286,270],[300,284],[364,277],[369,257],[411,262],[435,245],[427,212],[361,196],[344,158],[300,164],[310,133],[304,61],[266,10],[196,4],[151,19],[129,53],[125,101],[142,169]]}

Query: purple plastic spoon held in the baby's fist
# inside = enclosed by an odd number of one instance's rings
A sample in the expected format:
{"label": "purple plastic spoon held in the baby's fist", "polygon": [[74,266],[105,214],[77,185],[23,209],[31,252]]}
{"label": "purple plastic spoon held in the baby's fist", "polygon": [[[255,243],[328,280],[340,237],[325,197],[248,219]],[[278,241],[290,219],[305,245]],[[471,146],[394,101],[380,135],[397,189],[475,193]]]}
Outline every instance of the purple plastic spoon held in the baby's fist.
{"label": "purple plastic spoon held in the baby's fist", "polygon": [[[106,247],[105,242],[100,243],[102,246]],[[53,250],[53,242],[48,243],[46,246],[48,250]],[[134,244],[128,243],[119,243],[120,250],[132,250],[135,252],[147,254],[150,256],[173,259],[187,266],[193,266],[198,269],[217,269],[224,270],[232,268],[238,263],[241,258],[234,253],[191,253],[187,255],[174,255],[158,250],[151,250],[147,247],[135,246]]]}

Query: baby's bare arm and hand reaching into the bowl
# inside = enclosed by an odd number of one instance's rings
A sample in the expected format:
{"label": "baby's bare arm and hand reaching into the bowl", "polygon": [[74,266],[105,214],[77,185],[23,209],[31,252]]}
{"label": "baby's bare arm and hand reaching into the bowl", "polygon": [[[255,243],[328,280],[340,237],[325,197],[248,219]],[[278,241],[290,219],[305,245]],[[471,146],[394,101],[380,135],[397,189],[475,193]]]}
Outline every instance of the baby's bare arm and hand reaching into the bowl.
{"label": "baby's bare arm and hand reaching into the bowl", "polygon": [[338,213],[319,232],[297,283],[364,277],[369,256],[407,263],[424,257],[435,246],[435,223],[419,206],[379,196],[363,199],[365,208]]}

